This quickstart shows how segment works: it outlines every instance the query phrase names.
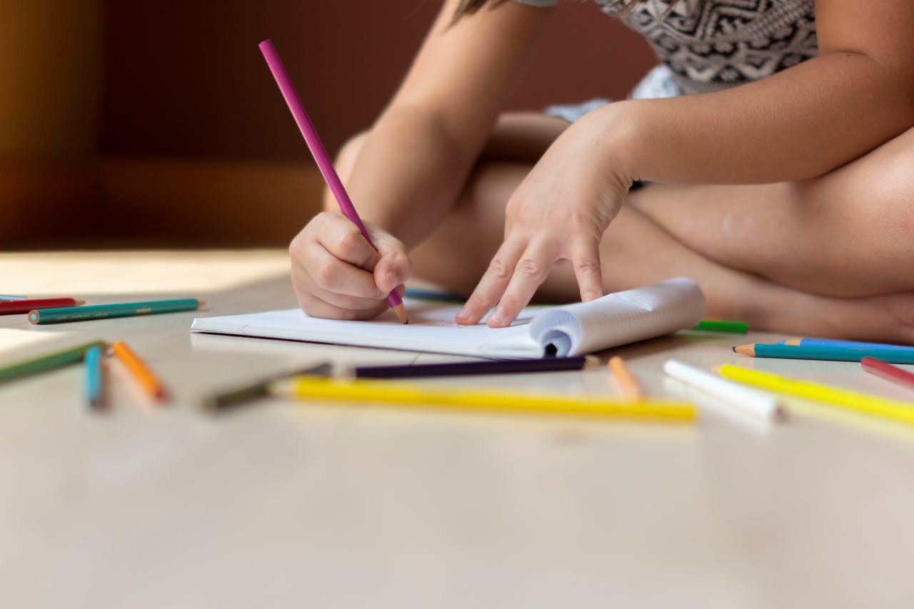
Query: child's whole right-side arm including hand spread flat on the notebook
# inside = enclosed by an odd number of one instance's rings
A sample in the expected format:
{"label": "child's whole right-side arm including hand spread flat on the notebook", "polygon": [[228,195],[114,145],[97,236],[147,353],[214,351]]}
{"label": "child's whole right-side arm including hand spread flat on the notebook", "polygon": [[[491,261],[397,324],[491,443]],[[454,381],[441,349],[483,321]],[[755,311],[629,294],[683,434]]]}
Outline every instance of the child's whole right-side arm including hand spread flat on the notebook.
{"label": "child's whole right-side arm including hand spread flat on the notebook", "polygon": [[553,144],[507,206],[505,242],[459,320],[509,324],[569,259],[600,295],[599,242],[634,179],[764,183],[824,174],[914,124],[914,4],[819,0],[820,57],[728,91],[611,104]]}

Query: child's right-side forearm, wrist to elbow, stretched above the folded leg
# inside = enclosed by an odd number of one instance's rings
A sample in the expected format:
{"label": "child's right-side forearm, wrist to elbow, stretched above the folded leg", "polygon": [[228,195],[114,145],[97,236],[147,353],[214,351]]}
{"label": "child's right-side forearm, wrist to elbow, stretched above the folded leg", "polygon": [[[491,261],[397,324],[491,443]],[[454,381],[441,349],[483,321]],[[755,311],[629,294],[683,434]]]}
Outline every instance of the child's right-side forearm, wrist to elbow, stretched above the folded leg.
{"label": "child's right-side forearm, wrist to elbow, stretched above the folded leg", "polygon": [[864,55],[829,53],[728,91],[611,104],[584,121],[633,179],[799,180],[914,124],[911,77],[899,76]]}

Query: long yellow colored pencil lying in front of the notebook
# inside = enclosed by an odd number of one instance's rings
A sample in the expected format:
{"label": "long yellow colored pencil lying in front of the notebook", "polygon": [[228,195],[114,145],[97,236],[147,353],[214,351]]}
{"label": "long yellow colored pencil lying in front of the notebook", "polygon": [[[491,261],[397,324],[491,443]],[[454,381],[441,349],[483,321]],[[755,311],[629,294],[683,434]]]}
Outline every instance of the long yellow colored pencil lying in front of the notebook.
{"label": "long yellow colored pencil lying in front of the notebook", "polygon": [[428,405],[480,411],[518,411],[529,413],[632,417],[644,419],[691,420],[696,410],[685,401],[628,401],[599,396],[537,395],[429,389],[394,380],[320,379],[296,377],[291,384],[278,383],[274,392],[291,390],[300,398],[381,401],[390,406]]}

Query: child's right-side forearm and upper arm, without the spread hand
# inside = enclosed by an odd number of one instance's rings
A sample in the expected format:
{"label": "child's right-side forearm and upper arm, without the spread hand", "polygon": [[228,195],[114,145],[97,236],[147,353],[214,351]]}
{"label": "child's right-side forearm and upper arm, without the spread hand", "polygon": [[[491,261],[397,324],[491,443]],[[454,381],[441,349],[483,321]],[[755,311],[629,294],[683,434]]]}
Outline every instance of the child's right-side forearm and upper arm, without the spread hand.
{"label": "child's right-side forearm and upper arm, without the spread hand", "polygon": [[914,124],[914,3],[816,2],[821,55],[728,91],[626,102],[633,176],[752,184],[820,176]]}

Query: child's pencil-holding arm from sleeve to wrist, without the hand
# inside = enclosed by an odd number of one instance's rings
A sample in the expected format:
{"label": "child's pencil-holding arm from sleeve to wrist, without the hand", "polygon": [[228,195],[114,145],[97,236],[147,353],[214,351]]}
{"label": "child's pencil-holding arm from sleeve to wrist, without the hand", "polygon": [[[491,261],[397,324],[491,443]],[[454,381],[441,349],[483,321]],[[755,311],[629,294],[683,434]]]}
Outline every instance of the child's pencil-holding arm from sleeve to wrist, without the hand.
{"label": "child's pencil-holding arm from sleeve to wrist, without the hand", "polygon": [[508,2],[452,25],[446,2],[347,187],[359,213],[407,246],[460,194],[550,11]]}

